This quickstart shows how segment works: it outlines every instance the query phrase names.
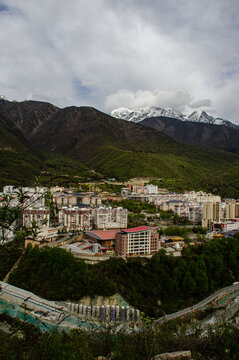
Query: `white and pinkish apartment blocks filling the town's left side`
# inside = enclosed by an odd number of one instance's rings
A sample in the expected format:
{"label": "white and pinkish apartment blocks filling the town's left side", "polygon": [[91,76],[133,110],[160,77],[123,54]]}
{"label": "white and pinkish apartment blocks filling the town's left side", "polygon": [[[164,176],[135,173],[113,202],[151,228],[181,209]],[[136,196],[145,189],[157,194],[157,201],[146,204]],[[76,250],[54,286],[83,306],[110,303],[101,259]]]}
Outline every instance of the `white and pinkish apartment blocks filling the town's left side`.
{"label": "white and pinkish apartment blocks filling the town's left side", "polygon": [[[17,220],[21,226],[34,226],[39,232],[46,231],[53,225],[52,213],[54,227],[65,231],[127,228],[127,209],[103,206],[101,197],[92,192],[75,193],[60,187],[48,189],[5,186],[0,199],[2,206],[4,201],[8,201],[10,207],[21,210],[21,217]],[[11,224],[8,234],[3,234],[4,238],[11,239],[14,236],[17,221]]]}

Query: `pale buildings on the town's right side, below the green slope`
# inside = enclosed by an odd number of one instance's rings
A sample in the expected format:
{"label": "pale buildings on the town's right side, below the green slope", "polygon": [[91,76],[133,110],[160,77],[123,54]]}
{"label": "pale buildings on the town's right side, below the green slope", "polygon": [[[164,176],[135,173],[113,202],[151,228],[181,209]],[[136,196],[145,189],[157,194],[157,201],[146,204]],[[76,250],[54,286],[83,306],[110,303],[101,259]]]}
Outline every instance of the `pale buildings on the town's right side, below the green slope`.
{"label": "pale buildings on the town's right side, below the green slope", "polygon": [[222,201],[219,195],[203,191],[159,193],[154,185],[129,186],[122,188],[123,198],[146,201],[162,211],[171,210],[174,214],[186,218],[194,224],[202,225],[211,231],[239,230],[239,201]]}

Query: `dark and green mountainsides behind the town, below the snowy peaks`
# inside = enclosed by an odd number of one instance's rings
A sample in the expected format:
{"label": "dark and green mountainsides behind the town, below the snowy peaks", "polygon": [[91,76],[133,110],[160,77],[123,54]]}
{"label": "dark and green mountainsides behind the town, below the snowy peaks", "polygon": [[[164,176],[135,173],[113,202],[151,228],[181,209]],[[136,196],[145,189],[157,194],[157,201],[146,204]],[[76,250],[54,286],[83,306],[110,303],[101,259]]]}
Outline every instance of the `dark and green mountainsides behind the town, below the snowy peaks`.
{"label": "dark and green mountainsides behind the town, below the snowy peaks", "polygon": [[[29,184],[36,175],[45,185],[96,176],[155,176],[178,190],[222,193],[226,184],[227,196],[239,197],[237,151],[191,146],[145,125],[90,107],[60,109],[46,102],[1,99],[0,184]],[[231,141],[234,146],[230,135]]]}

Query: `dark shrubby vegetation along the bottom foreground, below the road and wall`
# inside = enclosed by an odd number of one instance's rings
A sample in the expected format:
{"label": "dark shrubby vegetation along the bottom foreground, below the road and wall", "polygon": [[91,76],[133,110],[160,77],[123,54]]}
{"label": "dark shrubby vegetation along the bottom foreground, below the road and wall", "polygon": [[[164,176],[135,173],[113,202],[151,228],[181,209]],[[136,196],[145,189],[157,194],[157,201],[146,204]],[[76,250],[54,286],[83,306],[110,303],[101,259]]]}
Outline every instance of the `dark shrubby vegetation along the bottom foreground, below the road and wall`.
{"label": "dark shrubby vegetation along the bottom foreground, below the road and wall", "polygon": [[[72,330],[41,333],[32,325],[3,314],[1,322],[10,325],[10,335],[0,332],[2,360],[93,360],[109,356],[112,360],[151,360],[154,355],[191,350],[194,359],[237,360],[239,330],[233,325],[214,325],[207,331],[180,321],[154,324],[147,321],[141,331],[116,332],[114,325],[85,332]],[[188,331],[191,329],[191,331]]]}

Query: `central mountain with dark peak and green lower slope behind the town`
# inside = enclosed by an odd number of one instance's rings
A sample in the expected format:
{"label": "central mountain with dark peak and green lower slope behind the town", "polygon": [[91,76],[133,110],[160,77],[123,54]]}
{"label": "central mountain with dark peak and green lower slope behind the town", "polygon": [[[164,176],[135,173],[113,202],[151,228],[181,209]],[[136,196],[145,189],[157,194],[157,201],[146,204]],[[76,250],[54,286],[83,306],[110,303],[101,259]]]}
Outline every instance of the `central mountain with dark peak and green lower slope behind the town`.
{"label": "central mountain with dark peak and green lower slope behind the town", "polygon": [[32,140],[84,162],[107,176],[183,179],[186,186],[214,183],[239,157],[176,142],[160,131],[114,119],[93,108],[59,110]]}

